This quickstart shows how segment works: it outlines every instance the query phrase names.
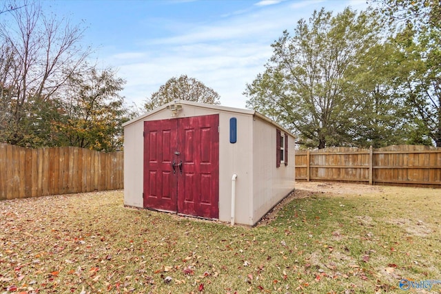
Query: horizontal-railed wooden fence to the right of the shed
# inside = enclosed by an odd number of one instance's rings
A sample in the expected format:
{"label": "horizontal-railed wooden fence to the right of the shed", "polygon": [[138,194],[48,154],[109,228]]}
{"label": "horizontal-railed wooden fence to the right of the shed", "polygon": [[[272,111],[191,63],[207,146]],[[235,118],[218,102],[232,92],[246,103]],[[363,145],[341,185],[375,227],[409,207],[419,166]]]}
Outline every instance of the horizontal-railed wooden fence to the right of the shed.
{"label": "horizontal-railed wooden fence to the right of the shed", "polygon": [[393,145],[296,151],[296,180],[441,188],[441,148]]}

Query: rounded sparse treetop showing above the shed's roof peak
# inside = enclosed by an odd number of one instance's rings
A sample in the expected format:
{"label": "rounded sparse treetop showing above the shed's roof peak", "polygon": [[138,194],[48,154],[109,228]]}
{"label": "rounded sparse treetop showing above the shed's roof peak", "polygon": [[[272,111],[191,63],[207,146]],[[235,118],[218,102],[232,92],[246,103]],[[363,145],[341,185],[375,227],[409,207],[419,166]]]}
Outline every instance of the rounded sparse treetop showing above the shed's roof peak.
{"label": "rounded sparse treetop showing above the shed's roof peak", "polygon": [[154,92],[150,98],[147,98],[144,107],[147,111],[150,111],[174,101],[174,99],[220,104],[219,98],[219,94],[212,88],[207,87],[201,81],[196,80],[196,78],[189,78],[183,74],[178,78],[170,78],[164,85],[161,85],[157,92]]}

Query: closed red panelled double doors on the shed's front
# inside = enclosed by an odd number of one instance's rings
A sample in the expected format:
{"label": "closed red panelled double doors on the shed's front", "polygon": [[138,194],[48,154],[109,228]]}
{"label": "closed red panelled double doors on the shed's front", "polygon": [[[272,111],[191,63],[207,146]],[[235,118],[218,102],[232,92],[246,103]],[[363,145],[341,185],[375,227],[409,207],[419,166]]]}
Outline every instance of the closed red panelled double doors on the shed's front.
{"label": "closed red panelled double doors on the shed's front", "polygon": [[219,116],[144,123],[144,207],[218,218]]}

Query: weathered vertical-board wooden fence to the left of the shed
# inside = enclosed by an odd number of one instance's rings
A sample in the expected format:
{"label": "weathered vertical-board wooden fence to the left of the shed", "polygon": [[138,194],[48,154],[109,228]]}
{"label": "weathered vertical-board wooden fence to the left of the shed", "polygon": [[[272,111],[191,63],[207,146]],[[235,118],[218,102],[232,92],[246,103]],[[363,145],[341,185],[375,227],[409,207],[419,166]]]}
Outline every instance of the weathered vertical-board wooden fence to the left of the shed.
{"label": "weathered vertical-board wooden fence to the left of the shed", "polygon": [[123,188],[123,152],[0,143],[0,200]]}

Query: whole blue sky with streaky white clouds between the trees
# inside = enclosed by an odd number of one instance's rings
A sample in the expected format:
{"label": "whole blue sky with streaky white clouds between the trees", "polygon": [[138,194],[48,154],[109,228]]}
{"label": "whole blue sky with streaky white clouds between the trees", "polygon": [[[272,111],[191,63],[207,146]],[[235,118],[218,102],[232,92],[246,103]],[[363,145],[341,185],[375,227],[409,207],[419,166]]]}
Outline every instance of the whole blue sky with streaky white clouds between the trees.
{"label": "whole blue sky with streaky white clouds between the trees", "polygon": [[271,56],[271,43],[299,19],[325,7],[334,12],[365,0],[62,0],[43,10],[87,27],[83,43],[103,67],[127,83],[127,105],[143,101],[172,76],[187,74],[220,95],[221,105],[245,108],[243,96]]}

